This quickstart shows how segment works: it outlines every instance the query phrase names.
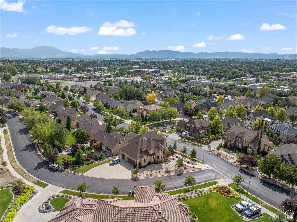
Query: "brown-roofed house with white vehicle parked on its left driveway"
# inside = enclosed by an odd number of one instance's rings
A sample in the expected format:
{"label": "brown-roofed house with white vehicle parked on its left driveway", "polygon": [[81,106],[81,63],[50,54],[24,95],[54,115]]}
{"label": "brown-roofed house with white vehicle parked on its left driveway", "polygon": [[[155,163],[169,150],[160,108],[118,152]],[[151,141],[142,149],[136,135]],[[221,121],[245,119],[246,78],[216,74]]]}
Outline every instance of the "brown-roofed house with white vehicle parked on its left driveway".
{"label": "brown-roofed house with white vehicle parked on its left driveway", "polygon": [[179,120],[176,125],[176,132],[189,131],[190,136],[198,139],[208,134],[210,122],[205,119],[190,118],[188,122]]}

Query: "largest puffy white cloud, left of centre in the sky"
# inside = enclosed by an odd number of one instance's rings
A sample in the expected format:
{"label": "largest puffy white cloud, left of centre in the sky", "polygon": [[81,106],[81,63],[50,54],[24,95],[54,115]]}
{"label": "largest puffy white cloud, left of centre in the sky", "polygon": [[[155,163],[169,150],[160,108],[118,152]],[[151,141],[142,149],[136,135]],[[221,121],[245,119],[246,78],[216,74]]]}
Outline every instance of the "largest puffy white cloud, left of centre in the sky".
{"label": "largest puffy white cloud, left of centre in the sky", "polygon": [[[103,36],[132,36],[135,35],[136,30],[134,27],[135,24],[133,22],[129,22],[126,20],[120,20],[116,23],[105,22],[99,28],[97,35]],[[124,28],[118,28],[124,27]]]}

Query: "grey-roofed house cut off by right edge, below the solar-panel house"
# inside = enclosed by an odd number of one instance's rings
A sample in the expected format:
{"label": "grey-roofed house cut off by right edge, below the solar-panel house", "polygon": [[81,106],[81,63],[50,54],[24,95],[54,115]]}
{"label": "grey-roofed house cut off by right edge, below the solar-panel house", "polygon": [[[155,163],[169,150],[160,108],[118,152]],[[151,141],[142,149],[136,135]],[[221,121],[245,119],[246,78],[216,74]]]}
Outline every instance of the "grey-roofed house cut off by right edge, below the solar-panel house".
{"label": "grey-roofed house cut off by right edge, below the solar-panel house", "polygon": [[273,148],[272,154],[277,154],[279,160],[289,166],[297,165],[297,144],[283,144]]}

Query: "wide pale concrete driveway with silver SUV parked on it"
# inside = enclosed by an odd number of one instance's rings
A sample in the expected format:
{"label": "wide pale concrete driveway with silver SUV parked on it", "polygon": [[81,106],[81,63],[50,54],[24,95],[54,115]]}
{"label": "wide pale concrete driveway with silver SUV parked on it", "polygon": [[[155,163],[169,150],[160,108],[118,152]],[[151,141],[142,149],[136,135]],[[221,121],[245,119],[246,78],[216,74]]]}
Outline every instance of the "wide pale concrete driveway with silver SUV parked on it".
{"label": "wide pale concrete driveway with silver SUV parked on it", "polygon": [[94,167],[84,173],[84,175],[109,179],[130,179],[133,168],[134,166],[121,159],[119,163],[114,165],[105,163]]}

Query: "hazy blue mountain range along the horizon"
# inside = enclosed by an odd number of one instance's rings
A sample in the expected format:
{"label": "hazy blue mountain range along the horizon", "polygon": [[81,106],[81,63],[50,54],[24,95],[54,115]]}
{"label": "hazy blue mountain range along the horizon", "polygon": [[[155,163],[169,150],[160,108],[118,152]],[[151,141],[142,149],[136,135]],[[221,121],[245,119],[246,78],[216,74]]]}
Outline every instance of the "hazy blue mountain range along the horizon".
{"label": "hazy blue mountain range along the horizon", "polygon": [[263,58],[263,59],[296,59],[297,54],[249,53],[249,52],[179,52],[172,50],[143,51],[135,54],[94,54],[83,55],[65,52],[51,46],[36,46],[32,49],[10,49],[1,47],[0,58]]}

